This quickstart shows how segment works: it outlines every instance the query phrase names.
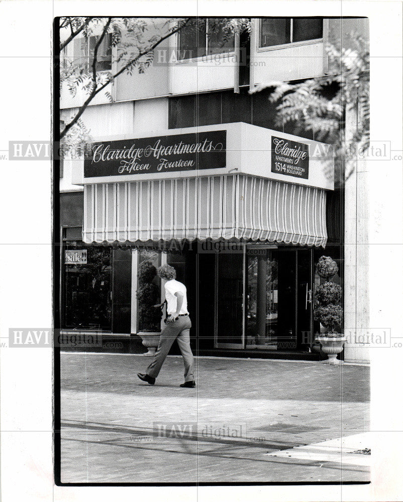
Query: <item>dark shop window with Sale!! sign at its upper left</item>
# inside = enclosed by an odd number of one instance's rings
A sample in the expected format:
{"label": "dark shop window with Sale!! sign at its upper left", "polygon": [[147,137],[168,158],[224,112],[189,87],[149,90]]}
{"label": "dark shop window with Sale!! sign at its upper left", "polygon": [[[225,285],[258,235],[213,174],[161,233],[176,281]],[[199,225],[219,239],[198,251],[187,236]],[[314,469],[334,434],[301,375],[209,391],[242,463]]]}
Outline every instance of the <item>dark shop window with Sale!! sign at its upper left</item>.
{"label": "dark shop window with Sale!! sign at its upper left", "polygon": [[65,329],[111,330],[111,252],[83,242],[64,246]]}

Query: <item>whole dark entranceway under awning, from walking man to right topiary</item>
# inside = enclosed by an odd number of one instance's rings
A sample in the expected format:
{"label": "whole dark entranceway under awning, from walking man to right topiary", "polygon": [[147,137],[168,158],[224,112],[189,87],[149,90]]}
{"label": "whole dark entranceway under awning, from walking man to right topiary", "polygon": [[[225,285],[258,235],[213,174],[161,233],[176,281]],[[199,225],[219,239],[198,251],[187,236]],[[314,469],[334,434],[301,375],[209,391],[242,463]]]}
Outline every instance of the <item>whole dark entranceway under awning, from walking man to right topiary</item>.
{"label": "whole dark entranceway under awning, from walking man to right topiary", "polygon": [[312,249],[241,244],[168,253],[167,263],[187,288],[191,335],[203,349],[311,351]]}

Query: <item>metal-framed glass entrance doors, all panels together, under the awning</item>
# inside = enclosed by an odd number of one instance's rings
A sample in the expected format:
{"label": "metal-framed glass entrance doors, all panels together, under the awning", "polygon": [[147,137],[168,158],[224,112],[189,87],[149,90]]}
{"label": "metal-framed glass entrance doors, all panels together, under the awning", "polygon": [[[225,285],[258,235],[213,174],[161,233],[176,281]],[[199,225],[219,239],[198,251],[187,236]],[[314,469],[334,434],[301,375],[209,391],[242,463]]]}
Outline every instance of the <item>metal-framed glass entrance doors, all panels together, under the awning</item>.
{"label": "metal-framed glass entrance doors, all panels together, under the awning", "polygon": [[312,249],[250,244],[244,254],[218,253],[215,347],[310,351],[312,280]]}

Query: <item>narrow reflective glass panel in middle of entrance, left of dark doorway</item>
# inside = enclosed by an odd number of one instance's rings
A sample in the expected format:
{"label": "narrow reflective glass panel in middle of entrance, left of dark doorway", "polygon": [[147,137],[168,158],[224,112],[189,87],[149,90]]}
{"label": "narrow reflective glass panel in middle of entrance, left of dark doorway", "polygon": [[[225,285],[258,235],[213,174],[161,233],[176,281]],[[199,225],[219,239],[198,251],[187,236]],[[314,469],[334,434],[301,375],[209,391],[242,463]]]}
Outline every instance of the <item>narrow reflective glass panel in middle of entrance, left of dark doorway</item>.
{"label": "narrow reflective glass panel in middle of entrance, left of dark doorway", "polygon": [[246,254],[246,346],[276,349],[278,336],[277,249],[251,248]]}

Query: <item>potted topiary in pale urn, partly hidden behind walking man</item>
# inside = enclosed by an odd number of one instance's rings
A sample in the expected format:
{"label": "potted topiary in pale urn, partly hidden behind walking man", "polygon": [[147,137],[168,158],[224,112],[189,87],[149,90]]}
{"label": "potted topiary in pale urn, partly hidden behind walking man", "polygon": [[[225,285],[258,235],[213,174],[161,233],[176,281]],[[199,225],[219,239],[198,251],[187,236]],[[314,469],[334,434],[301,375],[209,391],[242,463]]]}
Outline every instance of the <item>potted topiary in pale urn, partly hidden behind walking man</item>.
{"label": "potted topiary in pale urn, partly hidden behind walking man", "polygon": [[154,356],[161,333],[162,311],[154,307],[159,302],[159,288],[154,283],[156,269],[150,260],[145,260],[139,267],[137,299],[140,331],[137,333],[143,345],[148,348],[144,355]]}

